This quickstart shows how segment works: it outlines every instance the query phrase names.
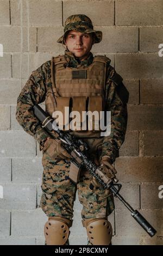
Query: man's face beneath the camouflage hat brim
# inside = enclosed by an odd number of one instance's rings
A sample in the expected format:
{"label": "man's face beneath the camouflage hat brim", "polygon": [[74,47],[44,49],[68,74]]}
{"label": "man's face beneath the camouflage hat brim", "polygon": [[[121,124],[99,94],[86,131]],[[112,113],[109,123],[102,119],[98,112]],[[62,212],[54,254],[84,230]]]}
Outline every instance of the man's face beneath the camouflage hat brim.
{"label": "man's face beneath the camouflage hat brim", "polygon": [[94,44],[92,34],[83,34],[78,31],[68,32],[65,39],[65,45],[68,50],[78,58],[86,56],[90,52],[92,44]]}

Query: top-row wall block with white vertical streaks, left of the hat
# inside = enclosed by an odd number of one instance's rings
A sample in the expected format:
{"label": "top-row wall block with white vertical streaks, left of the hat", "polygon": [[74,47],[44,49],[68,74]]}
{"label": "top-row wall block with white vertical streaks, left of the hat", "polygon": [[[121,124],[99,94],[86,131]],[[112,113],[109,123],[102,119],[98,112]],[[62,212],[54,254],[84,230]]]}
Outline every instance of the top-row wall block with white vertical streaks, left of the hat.
{"label": "top-row wall block with white vertical streaks, left of the hat", "polygon": [[62,1],[12,0],[11,25],[27,26],[27,24],[28,26],[61,26]]}

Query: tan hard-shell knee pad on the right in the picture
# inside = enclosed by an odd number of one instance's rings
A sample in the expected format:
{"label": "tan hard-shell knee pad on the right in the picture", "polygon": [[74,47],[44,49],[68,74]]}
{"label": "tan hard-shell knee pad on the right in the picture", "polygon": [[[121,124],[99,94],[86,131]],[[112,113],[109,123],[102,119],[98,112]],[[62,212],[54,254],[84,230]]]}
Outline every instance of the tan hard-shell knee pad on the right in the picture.
{"label": "tan hard-shell knee pad on the right in the picture", "polygon": [[105,218],[89,218],[82,221],[92,245],[109,245],[112,238],[111,223]]}

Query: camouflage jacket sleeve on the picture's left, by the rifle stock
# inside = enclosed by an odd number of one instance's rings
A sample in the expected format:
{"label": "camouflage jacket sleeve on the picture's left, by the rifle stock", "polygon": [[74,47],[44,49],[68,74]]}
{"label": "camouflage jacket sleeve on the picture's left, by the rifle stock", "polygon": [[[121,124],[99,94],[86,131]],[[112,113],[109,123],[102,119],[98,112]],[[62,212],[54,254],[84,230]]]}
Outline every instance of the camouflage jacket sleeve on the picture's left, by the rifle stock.
{"label": "camouflage jacket sleeve on the picture's left, by the rifle stock", "polygon": [[32,75],[30,75],[18,96],[16,108],[16,119],[18,123],[20,123],[24,131],[34,136],[37,142],[39,142],[40,150],[42,149],[42,142],[49,135],[43,130],[39,124],[39,120],[35,118],[32,108],[35,103],[38,104],[45,101],[48,69],[48,62],[46,62],[32,72]]}

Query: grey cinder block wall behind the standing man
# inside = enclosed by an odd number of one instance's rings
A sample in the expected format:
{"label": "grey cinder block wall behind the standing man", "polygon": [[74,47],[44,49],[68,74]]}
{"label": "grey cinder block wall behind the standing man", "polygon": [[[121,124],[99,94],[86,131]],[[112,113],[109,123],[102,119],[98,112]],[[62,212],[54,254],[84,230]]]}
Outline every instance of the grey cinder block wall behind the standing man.
{"label": "grey cinder block wall behind the standing man", "polygon": [[[88,15],[103,32],[94,54],[106,54],[129,90],[126,141],[116,160],[122,196],[158,233],[151,239],[115,200],[109,220],[114,245],[163,245],[162,178],[162,0],[0,0],[0,244],[42,245],[47,217],[40,209],[41,153],[15,120],[18,94],[33,70],[64,53],[56,41],[66,17]],[[1,187],[2,188],[2,187]],[[70,242],[86,245],[76,200]]]}

